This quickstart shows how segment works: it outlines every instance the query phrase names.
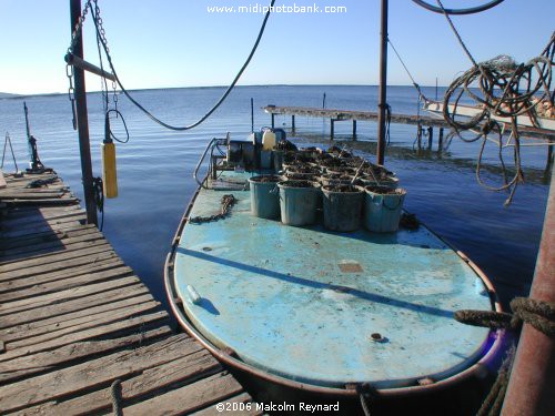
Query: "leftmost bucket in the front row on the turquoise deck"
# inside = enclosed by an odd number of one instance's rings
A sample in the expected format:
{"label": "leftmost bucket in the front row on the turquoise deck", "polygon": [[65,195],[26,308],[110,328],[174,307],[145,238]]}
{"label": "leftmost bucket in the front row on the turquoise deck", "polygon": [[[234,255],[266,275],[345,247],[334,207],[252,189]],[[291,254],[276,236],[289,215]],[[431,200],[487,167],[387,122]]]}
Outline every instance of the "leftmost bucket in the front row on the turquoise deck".
{"label": "leftmost bucket in the front row on the turquoise deck", "polygon": [[280,176],[261,175],[249,179],[251,187],[251,213],[261,219],[280,217],[280,196],[278,182]]}

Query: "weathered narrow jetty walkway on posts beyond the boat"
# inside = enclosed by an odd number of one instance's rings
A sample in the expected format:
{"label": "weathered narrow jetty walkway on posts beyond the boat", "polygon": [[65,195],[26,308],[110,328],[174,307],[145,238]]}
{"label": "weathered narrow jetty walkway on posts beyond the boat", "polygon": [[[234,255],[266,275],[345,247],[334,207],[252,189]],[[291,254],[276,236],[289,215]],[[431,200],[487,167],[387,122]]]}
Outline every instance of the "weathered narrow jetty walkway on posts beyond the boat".
{"label": "weathered narrow jetty walkway on posts beyond the boat", "polygon": [[[275,115],[301,115],[301,116],[330,119],[334,121],[344,121],[344,120],[377,121],[377,112],[373,111],[319,109],[312,106],[278,106],[278,105],[266,105],[263,109],[266,113]],[[413,125],[417,125],[420,123],[426,126],[447,128],[447,129],[451,128],[451,125],[445,120],[430,115],[416,116],[410,114],[392,113],[391,122],[398,124],[413,124]],[[509,132],[511,128],[507,126],[505,131]],[[547,132],[541,129],[521,126],[519,133],[528,138],[555,140],[554,132]]]}

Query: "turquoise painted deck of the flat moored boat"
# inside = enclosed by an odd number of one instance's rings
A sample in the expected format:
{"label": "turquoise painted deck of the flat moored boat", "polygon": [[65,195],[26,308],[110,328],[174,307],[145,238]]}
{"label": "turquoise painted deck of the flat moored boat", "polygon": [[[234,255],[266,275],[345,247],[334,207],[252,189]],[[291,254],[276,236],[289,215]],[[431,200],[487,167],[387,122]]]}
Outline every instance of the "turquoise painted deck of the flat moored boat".
{"label": "turquoise painted deck of the flat moored boat", "polygon": [[424,226],[286,226],[251,215],[243,190],[201,189],[189,217],[218,214],[224,194],[238,200],[231,214],[186,223],[174,267],[186,316],[215,346],[272,375],[339,388],[444,379],[488,348],[488,329],[453,318],[492,310],[484,283]]}

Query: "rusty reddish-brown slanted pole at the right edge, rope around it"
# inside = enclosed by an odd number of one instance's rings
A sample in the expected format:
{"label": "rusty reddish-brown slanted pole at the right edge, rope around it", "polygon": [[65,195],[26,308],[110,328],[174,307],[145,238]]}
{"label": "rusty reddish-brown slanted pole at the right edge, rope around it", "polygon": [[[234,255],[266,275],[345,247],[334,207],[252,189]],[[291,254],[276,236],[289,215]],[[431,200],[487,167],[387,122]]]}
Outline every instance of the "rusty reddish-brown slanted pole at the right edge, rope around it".
{"label": "rusty reddish-brown slanted pole at the right edge, rope around it", "polygon": [[[555,302],[555,172],[529,297]],[[555,339],[525,324],[502,415],[555,415]]]}

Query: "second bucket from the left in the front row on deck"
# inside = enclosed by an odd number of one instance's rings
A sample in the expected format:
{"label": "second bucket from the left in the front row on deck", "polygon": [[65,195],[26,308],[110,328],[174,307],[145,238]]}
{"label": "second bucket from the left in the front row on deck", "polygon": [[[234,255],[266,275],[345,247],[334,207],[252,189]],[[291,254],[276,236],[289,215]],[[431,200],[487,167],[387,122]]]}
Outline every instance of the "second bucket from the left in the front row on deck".
{"label": "second bucket from the left in the front row on deck", "polygon": [[280,189],[281,222],[285,225],[309,225],[316,222],[320,184],[312,181],[283,181]]}

